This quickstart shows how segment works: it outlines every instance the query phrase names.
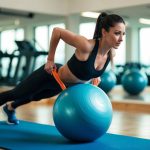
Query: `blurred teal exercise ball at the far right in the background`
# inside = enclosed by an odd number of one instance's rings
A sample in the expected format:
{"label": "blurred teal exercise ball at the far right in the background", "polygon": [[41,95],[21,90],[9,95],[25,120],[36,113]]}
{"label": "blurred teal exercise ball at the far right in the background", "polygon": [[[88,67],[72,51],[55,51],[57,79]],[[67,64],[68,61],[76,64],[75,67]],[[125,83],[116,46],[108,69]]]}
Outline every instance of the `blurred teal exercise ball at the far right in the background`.
{"label": "blurred teal exercise ball at the far right in the background", "polygon": [[124,90],[130,95],[138,95],[148,84],[146,74],[139,69],[127,70],[121,79]]}

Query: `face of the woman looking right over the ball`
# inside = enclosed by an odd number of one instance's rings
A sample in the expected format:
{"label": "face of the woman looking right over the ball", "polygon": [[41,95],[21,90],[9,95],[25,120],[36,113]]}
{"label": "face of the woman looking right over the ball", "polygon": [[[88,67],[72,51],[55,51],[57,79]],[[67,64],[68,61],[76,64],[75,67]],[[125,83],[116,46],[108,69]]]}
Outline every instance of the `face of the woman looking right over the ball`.
{"label": "face of the woman looking right over the ball", "polygon": [[103,37],[110,48],[118,49],[125,35],[125,24],[117,23],[114,27],[110,27],[109,32],[103,32]]}

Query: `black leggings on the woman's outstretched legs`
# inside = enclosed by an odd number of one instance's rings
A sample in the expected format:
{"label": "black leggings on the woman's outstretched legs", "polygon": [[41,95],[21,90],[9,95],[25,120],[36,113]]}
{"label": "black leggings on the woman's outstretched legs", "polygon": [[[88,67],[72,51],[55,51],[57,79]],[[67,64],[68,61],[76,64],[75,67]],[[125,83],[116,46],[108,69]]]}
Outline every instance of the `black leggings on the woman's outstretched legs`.
{"label": "black leggings on the woman's outstretched legs", "polygon": [[[13,101],[12,107],[27,104],[31,101],[39,101],[59,94],[62,89],[54,77],[40,67],[20,82],[14,89],[0,93],[0,106],[8,101]],[[56,64],[57,69],[61,65]]]}

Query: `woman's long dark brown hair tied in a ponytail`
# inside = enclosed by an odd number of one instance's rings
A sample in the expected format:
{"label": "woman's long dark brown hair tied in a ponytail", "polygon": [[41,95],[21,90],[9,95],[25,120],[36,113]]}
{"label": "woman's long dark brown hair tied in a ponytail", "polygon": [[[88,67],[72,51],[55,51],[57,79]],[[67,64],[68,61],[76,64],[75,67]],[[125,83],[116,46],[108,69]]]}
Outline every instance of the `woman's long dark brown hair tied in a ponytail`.
{"label": "woman's long dark brown hair tied in a ponytail", "polygon": [[[101,13],[96,21],[96,26],[95,26],[95,31],[94,31],[94,36],[93,39],[100,39],[102,38],[102,29],[105,29],[107,32],[109,32],[111,27],[114,27],[117,23],[123,23],[125,24],[125,21],[123,18],[119,15],[116,14],[110,14],[108,15],[107,13],[103,12]],[[111,61],[111,66],[113,68],[113,54],[112,50],[110,50],[110,61]]]}

